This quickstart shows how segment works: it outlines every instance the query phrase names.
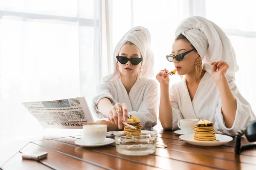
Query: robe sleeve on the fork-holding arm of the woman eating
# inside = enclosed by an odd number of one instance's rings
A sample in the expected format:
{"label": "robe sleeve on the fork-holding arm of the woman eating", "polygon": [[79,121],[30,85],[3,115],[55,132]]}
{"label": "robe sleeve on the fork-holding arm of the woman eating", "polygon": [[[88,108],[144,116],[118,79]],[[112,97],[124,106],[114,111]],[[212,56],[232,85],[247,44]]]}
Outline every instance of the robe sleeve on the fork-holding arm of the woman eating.
{"label": "robe sleeve on the fork-holding arm of the woman eating", "polygon": [[172,130],[178,129],[177,122],[180,119],[183,119],[183,116],[180,113],[178,102],[181,102],[181,99],[179,97],[178,88],[177,85],[174,84],[171,86],[169,90],[169,98],[172,105]]}

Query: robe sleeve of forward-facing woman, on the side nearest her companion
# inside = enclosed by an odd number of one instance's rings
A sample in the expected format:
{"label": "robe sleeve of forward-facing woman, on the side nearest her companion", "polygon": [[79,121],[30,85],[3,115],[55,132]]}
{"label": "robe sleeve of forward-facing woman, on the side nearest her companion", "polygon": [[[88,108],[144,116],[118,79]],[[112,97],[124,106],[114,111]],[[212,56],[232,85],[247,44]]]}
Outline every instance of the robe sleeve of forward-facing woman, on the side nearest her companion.
{"label": "robe sleeve of forward-facing woman, on the side nearest her companion", "polygon": [[143,101],[140,104],[138,111],[128,112],[128,116],[135,116],[141,121],[142,129],[150,130],[151,127],[157,125],[157,94],[158,87],[157,82],[150,80],[150,84],[145,88],[143,95]]}

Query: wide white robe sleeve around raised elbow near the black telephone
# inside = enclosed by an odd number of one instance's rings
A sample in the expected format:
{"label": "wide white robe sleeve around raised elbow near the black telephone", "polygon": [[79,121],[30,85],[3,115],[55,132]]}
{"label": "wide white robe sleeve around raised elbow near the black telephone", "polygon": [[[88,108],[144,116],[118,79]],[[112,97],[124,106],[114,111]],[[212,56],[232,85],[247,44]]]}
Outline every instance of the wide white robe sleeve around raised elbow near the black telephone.
{"label": "wide white robe sleeve around raised elbow near the black telephone", "polygon": [[218,98],[218,107],[216,108],[215,113],[215,130],[219,130],[228,135],[235,136],[236,132],[240,129],[247,127],[248,123],[252,120],[255,120],[255,114],[252,111],[250,104],[246,99],[240,94],[236,83],[234,80],[229,82],[231,91],[233,95],[236,97],[236,117],[231,128],[227,128],[224,123],[222,110],[221,110],[221,97]]}

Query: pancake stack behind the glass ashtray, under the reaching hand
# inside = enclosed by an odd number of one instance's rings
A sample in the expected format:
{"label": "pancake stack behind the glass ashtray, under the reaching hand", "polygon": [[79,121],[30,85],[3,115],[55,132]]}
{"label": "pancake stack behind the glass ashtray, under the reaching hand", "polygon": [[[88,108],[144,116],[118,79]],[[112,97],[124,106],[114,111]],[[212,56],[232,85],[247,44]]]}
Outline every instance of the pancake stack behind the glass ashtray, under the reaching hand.
{"label": "pancake stack behind the glass ashtray, under the reaching hand", "polygon": [[131,119],[127,119],[127,122],[129,125],[132,125],[134,127],[137,127],[137,129],[133,129],[129,126],[126,126],[124,125],[124,133],[125,134],[129,134],[129,135],[132,135],[133,133],[140,133],[141,132],[141,128],[142,128],[142,125],[140,125],[140,120],[137,119],[136,117],[134,116],[131,116]]}

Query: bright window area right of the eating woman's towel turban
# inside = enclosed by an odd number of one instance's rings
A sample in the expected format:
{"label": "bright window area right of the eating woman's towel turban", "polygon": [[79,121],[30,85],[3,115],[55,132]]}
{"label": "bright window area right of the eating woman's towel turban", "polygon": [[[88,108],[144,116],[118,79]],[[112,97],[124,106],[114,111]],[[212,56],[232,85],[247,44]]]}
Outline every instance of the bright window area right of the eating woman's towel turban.
{"label": "bright window area right of the eating woman's towel turban", "polygon": [[236,72],[236,85],[254,111],[256,89],[252,75],[256,72],[256,59],[253,54],[256,45],[255,5],[256,3],[250,0],[225,0],[221,1],[221,5],[215,1],[206,0],[207,19],[220,26],[232,42],[239,65],[239,71]]}

